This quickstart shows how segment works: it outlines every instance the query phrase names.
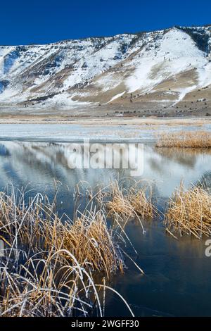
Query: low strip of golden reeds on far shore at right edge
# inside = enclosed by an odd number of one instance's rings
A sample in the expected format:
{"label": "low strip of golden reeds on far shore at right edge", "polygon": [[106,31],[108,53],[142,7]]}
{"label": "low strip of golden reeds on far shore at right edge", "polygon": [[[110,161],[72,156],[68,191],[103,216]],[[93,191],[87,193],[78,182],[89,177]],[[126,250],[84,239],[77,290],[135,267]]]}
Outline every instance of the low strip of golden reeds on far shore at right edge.
{"label": "low strip of golden reeds on far shore at right edge", "polygon": [[157,137],[155,146],[207,149],[211,147],[211,133],[206,131],[163,132]]}

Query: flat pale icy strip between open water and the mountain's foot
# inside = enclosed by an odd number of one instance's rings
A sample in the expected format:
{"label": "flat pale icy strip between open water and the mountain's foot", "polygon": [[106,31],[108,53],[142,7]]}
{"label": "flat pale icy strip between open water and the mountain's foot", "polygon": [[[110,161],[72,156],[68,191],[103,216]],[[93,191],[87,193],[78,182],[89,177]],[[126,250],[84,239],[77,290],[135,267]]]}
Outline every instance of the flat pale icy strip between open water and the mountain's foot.
{"label": "flat pale icy strip between open water and the mountain's foot", "polygon": [[210,118],[11,118],[0,119],[0,141],[153,144],[160,133],[205,130]]}

